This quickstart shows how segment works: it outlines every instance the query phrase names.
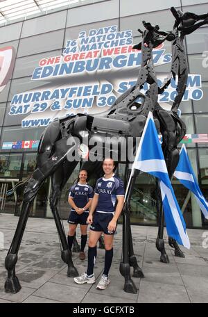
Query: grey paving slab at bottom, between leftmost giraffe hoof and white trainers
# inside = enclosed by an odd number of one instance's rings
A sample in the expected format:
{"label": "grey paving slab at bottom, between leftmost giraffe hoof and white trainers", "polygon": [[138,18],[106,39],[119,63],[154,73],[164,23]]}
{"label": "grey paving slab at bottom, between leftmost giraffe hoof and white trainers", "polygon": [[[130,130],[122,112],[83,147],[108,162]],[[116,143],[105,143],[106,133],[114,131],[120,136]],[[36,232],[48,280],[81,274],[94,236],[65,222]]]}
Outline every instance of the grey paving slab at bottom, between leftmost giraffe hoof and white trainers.
{"label": "grey paving slab at bottom, between leftmost giraffe hoof and white trainers", "polygon": [[81,302],[86,294],[87,290],[76,287],[76,284],[75,286],[67,286],[46,282],[33,295],[60,302]]}

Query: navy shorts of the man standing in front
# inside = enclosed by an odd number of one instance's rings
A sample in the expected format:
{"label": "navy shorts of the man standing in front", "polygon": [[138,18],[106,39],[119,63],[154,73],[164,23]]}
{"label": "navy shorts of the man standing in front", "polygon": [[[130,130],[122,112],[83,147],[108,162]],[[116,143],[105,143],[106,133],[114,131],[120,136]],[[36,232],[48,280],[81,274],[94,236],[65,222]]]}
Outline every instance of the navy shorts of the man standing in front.
{"label": "navy shorts of the man standing in front", "polygon": [[107,227],[109,222],[112,220],[114,214],[113,213],[94,213],[94,218],[92,225],[90,225],[89,229],[92,231],[103,231],[104,234],[116,234],[116,231],[108,231]]}

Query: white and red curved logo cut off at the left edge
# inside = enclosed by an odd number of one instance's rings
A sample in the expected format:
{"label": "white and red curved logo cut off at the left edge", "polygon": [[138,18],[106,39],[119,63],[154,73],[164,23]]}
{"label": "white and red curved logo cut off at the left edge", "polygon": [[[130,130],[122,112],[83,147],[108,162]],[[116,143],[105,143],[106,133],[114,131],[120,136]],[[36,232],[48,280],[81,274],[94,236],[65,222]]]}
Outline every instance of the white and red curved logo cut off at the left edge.
{"label": "white and red curved logo cut off at the left edge", "polygon": [[6,84],[10,80],[14,65],[14,47],[3,47],[3,49],[0,49],[0,92],[3,88],[5,88]]}

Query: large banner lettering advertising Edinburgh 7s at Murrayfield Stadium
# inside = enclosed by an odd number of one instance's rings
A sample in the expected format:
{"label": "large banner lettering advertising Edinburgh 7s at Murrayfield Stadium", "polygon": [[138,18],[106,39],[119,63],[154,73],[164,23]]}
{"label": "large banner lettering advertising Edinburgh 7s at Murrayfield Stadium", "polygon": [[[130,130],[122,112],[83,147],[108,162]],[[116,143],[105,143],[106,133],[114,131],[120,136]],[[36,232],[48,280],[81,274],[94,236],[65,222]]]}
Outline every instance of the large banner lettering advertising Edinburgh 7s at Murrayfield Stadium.
{"label": "large banner lettering advertising Edinburgh 7s at Murrayfield Stadium", "polygon": [[[118,31],[117,26],[81,31],[78,38],[67,41],[62,56],[42,58],[33,70],[31,81],[38,88],[12,97],[7,124],[22,128],[46,127],[58,117],[76,113],[101,113],[137,81],[141,51],[132,49],[132,30]],[[163,45],[153,50],[155,70],[171,63],[171,54]],[[170,64],[171,69],[171,64]],[[157,72],[159,85],[167,73]],[[162,95],[159,104],[171,108],[177,83]],[[145,93],[148,85],[141,92]],[[189,74],[184,101],[202,98],[200,74]]]}

